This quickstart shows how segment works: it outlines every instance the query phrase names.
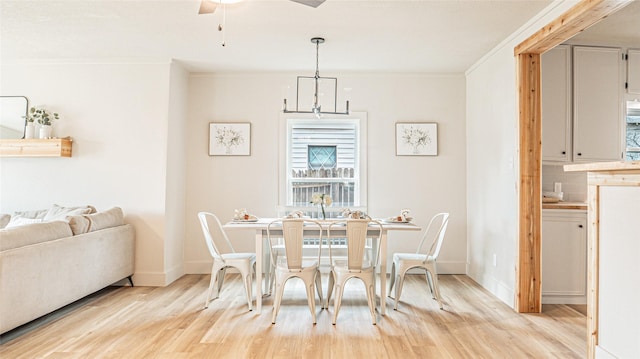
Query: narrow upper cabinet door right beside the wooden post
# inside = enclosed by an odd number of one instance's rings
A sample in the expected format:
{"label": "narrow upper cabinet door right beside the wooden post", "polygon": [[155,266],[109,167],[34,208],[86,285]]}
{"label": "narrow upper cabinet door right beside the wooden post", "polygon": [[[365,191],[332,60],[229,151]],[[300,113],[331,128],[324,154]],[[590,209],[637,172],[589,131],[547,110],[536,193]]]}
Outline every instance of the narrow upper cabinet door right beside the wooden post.
{"label": "narrow upper cabinet door right beside the wooden post", "polygon": [[558,45],[541,60],[542,160],[571,161],[571,51]]}

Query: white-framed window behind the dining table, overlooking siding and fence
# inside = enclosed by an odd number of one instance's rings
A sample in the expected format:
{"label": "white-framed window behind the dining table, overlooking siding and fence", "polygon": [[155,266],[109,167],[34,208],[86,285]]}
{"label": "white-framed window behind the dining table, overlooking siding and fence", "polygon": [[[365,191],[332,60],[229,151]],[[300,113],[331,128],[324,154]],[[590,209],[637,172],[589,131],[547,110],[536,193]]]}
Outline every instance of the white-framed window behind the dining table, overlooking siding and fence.
{"label": "white-framed window behind the dining table, overlooking siding and fence", "polygon": [[310,203],[314,193],[331,196],[328,218],[343,208],[366,211],[366,120],[357,115],[282,119],[281,215],[301,210],[317,217]]}

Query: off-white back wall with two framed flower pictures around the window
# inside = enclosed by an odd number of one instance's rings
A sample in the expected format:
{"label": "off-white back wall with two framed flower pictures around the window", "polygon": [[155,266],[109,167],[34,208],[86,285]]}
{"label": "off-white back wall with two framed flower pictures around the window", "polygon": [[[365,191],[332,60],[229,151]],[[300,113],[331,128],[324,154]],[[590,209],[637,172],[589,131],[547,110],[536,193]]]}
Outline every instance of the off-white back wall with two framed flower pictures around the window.
{"label": "off-white back wall with two framed flower pictures around the window", "polygon": [[[278,204],[278,120],[282,101],[295,91],[292,73],[192,74],[187,124],[185,271],[208,273],[196,214],[228,221],[236,208],[275,217]],[[351,88],[351,110],[367,112],[369,214],[385,217],[410,208],[421,225],[451,213],[439,261],[443,273],[464,273],[466,260],[465,85],[462,74],[323,74]],[[287,90],[287,87],[289,89]],[[293,91],[291,90],[293,89]],[[338,94],[338,107],[347,99]],[[289,103],[294,99],[289,98]],[[251,156],[210,157],[210,122],[250,122]],[[437,157],[395,156],[395,123],[437,122]],[[228,233],[236,250],[252,251],[252,232]],[[413,251],[417,233],[393,233],[389,253]]]}

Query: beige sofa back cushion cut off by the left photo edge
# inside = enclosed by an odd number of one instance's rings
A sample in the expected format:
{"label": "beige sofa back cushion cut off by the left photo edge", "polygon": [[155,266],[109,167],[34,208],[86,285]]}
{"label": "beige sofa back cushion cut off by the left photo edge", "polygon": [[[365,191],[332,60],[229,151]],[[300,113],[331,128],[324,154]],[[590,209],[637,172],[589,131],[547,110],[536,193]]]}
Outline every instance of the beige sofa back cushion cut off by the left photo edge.
{"label": "beige sofa back cushion cut off by the left photo edge", "polygon": [[73,232],[67,222],[53,221],[0,229],[0,251],[71,237]]}

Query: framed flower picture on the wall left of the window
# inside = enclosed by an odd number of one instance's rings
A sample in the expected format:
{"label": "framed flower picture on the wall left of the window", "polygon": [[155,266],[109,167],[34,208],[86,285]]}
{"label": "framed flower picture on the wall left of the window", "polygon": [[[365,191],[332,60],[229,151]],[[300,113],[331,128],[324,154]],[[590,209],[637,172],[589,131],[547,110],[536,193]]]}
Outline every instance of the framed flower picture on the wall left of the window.
{"label": "framed flower picture on the wall left of the window", "polygon": [[209,123],[209,156],[250,156],[251,123]]}

